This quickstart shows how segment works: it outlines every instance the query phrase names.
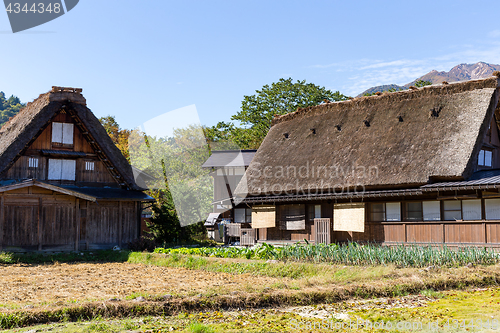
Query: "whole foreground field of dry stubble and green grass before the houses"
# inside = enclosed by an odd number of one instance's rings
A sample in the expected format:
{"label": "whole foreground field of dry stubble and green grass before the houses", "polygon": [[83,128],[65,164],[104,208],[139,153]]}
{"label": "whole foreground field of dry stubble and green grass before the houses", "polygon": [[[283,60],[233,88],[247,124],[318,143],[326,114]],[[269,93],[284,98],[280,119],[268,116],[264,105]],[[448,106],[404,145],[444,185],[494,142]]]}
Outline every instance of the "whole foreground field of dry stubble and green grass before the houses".
{"label": "whole foreground field of dry stubble and green grass before the houses", "polygon": [[288,332],[293,322],[310,332],[309,320],[327,317],[485,319],[500,311],[500,291],[488,289],[499,284],[499,264],[402,268],[131,253],[123,262],[0,270],[0,324],[11,332]]}

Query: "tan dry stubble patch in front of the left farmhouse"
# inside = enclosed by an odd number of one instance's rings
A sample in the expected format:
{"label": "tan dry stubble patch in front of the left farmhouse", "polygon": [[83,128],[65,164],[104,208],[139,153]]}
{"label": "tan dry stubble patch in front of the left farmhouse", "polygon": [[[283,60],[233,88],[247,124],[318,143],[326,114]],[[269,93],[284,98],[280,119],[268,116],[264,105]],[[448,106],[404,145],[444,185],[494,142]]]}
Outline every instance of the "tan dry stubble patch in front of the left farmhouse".
{"label": "tan dry stubble patch in front of the left farmhouse", "polygon": [[0,310],[250,290],[283,280],[129,263],[3,265],[0,271]]}

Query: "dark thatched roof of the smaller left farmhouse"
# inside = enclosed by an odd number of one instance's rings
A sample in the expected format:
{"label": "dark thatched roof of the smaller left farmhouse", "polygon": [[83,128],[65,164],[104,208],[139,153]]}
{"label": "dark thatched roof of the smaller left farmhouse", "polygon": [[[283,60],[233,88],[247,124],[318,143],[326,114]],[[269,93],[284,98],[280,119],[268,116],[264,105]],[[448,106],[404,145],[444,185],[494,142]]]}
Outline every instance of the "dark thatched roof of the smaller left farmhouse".
{"label": "dark thatched roof of the smaller left farmhouse", "polygon": [[[98,147],[102,159],[110,163],[117,181],[128,188],[140,190],[132,173],[132,168],[115,146],[99,120],[86,106],[81,89],[53,87],[52,91],[40,95],[28,103],[14,118],[0,129],[0,174],[7,171],[61,110],[76,116],[76,126]],[[116,170],[117,172],[115,172]]]}

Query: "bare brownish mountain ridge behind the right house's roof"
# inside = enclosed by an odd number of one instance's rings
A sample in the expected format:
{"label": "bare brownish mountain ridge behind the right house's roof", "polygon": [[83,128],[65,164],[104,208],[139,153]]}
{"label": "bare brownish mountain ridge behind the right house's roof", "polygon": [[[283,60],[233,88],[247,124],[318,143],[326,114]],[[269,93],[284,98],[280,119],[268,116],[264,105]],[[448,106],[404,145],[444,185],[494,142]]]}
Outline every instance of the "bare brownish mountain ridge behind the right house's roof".
{"label": "bare brownish mountain ridge behind the right house's roof", "polygon": [[500,65],[487,64],[485,62],[478,62],[475,64],[460,64],[453,67],[449,72],[438,72],[432,70],[429,73],[422,75],[421,77],[415,79],[414,81],[405,84],[404,86],[398,86],[396,84],[376,86],[363,91],[358,96],[363,96],[364,94],[370,94],[374,92],[386,91],[389,88],[386,87],[400,87],[401,89],[408,89],[410,86],[414,85],[415,82],[430,81],[432,84],[446,82],[456,82],[456,81],[468,81],[476,79],[484,79],[490,77],[494,71],[500,71]]}

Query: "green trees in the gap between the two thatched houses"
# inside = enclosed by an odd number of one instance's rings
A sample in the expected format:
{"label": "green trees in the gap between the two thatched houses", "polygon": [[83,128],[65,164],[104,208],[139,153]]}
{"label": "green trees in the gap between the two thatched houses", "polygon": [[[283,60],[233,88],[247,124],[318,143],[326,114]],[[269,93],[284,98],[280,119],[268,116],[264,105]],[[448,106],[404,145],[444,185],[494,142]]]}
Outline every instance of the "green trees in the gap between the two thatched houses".
{"label": "green trees in the gap between the two thatched houses", "polygon": [[132,163],[153,177],[148,182],[156,199],[150,224],[157,242],[187,242],[206,238],[204,219],[213,196],[209,170],[201,168],[209,151],[199,126],[174,130],[156,138],[133,131],[129,138]]}

